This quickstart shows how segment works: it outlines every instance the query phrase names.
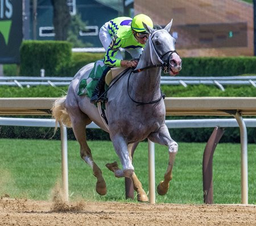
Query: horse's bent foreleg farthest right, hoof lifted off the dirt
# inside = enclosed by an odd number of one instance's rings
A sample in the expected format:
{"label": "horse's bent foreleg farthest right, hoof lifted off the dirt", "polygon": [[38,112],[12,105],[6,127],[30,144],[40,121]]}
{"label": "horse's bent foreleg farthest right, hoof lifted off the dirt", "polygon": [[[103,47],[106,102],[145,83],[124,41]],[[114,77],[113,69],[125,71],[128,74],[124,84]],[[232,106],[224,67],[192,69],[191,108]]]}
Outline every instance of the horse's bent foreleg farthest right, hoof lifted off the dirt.
{"label": "horse's bent foreleg farthest right, hoof lifted off the dirt", "polygon": [[178,150],[177,143],[170,137],[167,126],[164,124],[157,133],[152,133],[148,137],[152,142],[168,146],[169,162],[164,181],[161,181],[157,187],[159,195],[165,195],[169,189],[169,182],[172,180],[172,167],[174,166],[175,156]]}

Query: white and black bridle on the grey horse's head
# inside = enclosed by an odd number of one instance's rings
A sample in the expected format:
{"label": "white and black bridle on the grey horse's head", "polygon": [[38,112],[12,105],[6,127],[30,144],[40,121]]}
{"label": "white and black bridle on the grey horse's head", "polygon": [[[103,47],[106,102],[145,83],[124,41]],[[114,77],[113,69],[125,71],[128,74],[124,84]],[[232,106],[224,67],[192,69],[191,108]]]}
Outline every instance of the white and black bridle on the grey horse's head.
{"label": "white and black bridle on the grey horse's head", "polygon": [[[154,42],[152,41],[152,39],[153,39],[155,33],[156,33],[156,32],[159,32],[159,31],[166,31],[166,30],[165,30],[165,29],[156,30],[156,31],[154,31],[154,32],[152,33],[152,35],[150,35],[150,37],[149,37],[149,39],[148,39],[149,45],[150,45],[150,57],[151,57],[151,62],[152,62],[153,64],[150,65],[150,66],[143,67],[142,69],[133,70],[133,71],[132,71],[133,73],[139,73],[139,72],[141,72],[141,71],[144,71],[144,70],[147,70],[147,69],[151,69],[152,67],[162,67],[164,73],[165,73],[165,74],[168,73],[169,68],[170,68],[170,58],[171,58],[172,54],[174,54],[174,53],[178,54],[178,53],[177,53],[176,50],[169,50],[169,51],[167,51],[166,53],[164,53],[164,54],[162,54],[162,55],[159,53],[159,51],[155,48]],[[166,32],[168,32],[168,31],[166,31]],[[153,52],[153,51],[154,51],[154,53],[156,54],[156,56],[157,56],[157,58],[158,58],[158,61],[159,61],[160,63],[155,63],[155,62],[154,62],[154,59],[152,58],[152,56],[153,56],[152,52]],[[167,61],[167,62],[164,62],[164,61],[163,61],[163,57],[166,56],[166,54],[168,54],[168,53],[170,53],[170,55],[169,55],[169,57],[168,57],[168,61]],[[178,55],[179,55],[179,54],[178,54]]]}

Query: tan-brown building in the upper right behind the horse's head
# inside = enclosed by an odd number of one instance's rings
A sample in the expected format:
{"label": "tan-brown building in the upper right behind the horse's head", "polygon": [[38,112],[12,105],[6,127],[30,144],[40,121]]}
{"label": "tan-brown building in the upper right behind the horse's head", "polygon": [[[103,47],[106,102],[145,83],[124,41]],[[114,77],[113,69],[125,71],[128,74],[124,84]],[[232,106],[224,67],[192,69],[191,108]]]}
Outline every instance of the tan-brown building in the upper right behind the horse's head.
{"label": "tan-brown building in the upper right behind the horse's head", "polygon": [[240,0],[135,0],[134,13],[171,32],[182,57],[253,56],[253,5]]}

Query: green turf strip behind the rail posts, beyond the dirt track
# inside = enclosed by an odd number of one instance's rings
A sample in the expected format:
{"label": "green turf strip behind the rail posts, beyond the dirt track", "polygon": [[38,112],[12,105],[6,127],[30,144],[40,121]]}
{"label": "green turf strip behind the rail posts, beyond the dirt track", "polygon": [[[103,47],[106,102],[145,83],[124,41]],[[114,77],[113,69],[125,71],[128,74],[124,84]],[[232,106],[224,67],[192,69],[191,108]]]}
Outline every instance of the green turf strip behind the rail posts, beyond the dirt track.
{"label": "green turf strip behind the rail posts, beyond the dirt track", "polygon": [[[0,197],[51,198],[51,190],[61,181],[61,154],[58,140],[0,139]],[[108,193],[95,191],[96,178],[80,159],[79,144],[68,142],[69,195],[88,201],[125,200],[124,179],[115,178],[106,163],[118,161],[111,142],[90,141],[94,160],[102,169]],[[202,161],[205,143],[179,143],[173,180],[167,195],[156,194],[157,203],[203,203]],[[214,203],[241,203],[240,144],[220,143],[213,159]],[[256,204],[256,145],[248,145],[249,203]],[[168,151],[155,146],[155,180],[163,180]],[[148,191],[147,142],[139,144],[134,167],[144,190]],[[137,202],[137,201],[131,201]]]}

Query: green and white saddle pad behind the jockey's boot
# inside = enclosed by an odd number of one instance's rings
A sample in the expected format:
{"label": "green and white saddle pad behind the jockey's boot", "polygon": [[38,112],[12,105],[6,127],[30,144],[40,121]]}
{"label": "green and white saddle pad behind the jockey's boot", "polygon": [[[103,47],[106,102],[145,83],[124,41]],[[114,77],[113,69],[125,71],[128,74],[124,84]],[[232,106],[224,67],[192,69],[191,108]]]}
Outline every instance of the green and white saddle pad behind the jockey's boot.
{"label": "green and white saddle pad behind the jockey's boot", "polygon": [[94,63],[93,69],[90,72],[88,78],[82,79],[79,83],[79,91],[77,95],[87,95],[89,98],[92,97],[92,93],[97,86],[98,79],[106,69],[103,59],[100,59]]}

